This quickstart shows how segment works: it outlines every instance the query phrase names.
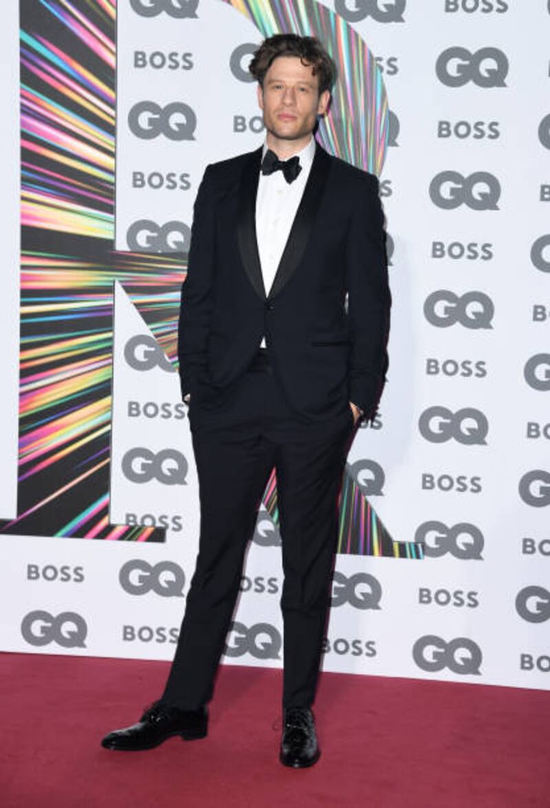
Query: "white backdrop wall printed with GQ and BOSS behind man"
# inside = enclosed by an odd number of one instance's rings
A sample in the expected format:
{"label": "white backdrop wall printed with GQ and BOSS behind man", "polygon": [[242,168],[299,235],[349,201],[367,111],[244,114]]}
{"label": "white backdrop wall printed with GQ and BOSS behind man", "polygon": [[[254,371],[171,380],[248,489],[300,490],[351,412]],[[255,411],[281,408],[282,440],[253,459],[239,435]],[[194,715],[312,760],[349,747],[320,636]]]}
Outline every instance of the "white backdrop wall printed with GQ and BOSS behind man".
{"label": "white backdrop wall printed with GQ and BOSS behind man", "polygon": [[[550,688],[548,2],[20,6],[0,647],[174,653],[199,532],[170,360],[181,255],[204,167],[262,142],[251,53],[296,31],[338,62],[320,141],[380,174],[394,300],[380,416],[346,472],[324,668]],[[15,297],[2,306],[12,368]],[[279,544],[268,490],[225,663],[282,664]]]}

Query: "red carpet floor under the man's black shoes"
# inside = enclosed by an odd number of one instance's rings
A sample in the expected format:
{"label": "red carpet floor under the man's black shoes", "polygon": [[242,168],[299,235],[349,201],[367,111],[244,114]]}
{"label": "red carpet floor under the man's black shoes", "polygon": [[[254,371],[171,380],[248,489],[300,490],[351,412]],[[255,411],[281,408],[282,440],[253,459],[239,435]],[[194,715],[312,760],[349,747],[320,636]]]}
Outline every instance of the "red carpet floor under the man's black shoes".
{"label": "red carpet floor under the man's black shoes", "polygon": [[280,673],[225,667],[207,739],[109,752],[167,663],[0,654],[2,808],[550,808],[550,693],[324,674],[322,756],[277,760]]}

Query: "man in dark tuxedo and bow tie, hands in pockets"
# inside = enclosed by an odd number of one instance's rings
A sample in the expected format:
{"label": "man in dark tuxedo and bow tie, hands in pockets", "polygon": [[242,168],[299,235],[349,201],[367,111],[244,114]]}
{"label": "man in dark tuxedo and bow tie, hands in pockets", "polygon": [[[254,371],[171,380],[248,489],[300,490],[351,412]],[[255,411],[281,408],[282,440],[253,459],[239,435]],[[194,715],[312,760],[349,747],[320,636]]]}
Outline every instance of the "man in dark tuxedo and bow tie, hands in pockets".
{"label": "man in dark tuxedo and bow tie, hands in pockets", "polygon": [[208,166],[195,202],[179,369],[199,476],[199,556],[162,698],[109,749],[207,734],[207,704],[271,470],[283,553],[279,758],[320,755],[312,705],[360,418],[388,364],[390,293],[376,177],[316,143],[334,63],[312,37],[265,40],[250,72],[266,141]]}

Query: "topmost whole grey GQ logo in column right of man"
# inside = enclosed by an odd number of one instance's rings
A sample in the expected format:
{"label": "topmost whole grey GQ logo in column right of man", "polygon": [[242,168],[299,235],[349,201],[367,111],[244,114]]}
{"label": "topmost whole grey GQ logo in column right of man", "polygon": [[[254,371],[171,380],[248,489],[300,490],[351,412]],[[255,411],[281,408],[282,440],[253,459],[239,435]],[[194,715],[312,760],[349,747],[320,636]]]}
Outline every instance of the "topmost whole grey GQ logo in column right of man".
{"label": "topmost whole grey GQ logo in column right of man", "polygon": [[468,48],[447,48],[435,62],[435,73],[447,87],[463,87],[473,82],[478,87],[506,87],[508,75],[506,53],[498,48],[480,48],[471,53]]}

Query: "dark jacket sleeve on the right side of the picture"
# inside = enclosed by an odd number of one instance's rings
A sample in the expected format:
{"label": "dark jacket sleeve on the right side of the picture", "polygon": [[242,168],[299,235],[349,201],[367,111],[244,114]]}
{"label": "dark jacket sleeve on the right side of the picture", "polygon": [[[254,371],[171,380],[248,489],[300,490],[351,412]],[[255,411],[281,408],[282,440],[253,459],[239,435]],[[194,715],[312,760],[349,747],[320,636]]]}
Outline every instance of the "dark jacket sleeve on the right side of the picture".
{"label": "dark jacket sleeve on the right side of the picture", "polygon": [[[362,178],[363,179],[363,178]],[[346,242],[350,401],[372,419],[388,369],[389,313],[384,213],[374,175],[364,175]]]}

